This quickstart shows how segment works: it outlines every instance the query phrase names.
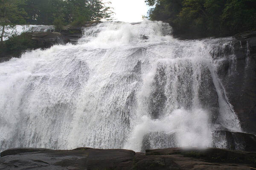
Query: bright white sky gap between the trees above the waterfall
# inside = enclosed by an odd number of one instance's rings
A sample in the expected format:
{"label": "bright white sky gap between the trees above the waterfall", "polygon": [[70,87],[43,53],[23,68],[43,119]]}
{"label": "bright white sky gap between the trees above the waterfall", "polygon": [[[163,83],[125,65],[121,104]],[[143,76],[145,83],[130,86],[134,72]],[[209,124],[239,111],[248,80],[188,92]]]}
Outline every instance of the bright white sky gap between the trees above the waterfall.
{"label": "bright white sky gap between the trees above the waterfall", "polygon": [[145,0],[108,0],[111,1],[113,7],[113,15],[116,21],[124,21],[128,23],[142,21],[142,16],[147,15],[149,9]]}

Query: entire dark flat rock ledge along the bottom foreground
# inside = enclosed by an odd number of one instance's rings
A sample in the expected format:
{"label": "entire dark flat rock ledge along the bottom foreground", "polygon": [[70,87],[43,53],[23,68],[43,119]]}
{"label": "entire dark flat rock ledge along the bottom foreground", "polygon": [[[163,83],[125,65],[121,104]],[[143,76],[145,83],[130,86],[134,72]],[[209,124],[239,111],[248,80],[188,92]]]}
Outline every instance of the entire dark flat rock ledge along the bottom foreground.
{"label": "entire dark flat rock ledge along the bottom foreground", "polygon": [[18,148],[1,153],[0,170],[251,170],[256,153],[209,148],[132,150]]}

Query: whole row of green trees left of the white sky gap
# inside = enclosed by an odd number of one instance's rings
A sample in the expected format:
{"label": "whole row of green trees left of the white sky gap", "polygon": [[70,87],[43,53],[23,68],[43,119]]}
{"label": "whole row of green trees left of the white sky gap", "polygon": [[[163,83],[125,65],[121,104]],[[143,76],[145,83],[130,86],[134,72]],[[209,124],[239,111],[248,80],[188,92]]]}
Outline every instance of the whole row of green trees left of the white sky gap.
{"label": "whole row of green trees left of the white sky gap", "polygon": [[110,19],[111,8],[102,0],[0,0],[0,37],[6,26],[18,24],[55,25]]}

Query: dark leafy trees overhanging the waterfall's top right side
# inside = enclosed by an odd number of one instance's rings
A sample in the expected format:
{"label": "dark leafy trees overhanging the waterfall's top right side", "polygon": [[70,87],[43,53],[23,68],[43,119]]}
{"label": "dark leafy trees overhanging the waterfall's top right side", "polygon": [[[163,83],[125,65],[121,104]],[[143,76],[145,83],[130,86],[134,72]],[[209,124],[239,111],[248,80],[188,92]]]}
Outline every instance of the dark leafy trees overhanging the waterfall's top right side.
{"label": "dark leafy trees overhanging the waterfall's top right side", "polygon": [[151,20],[163,20],[175,34],[228,36],[256,29],[255,0],[145,0]]}

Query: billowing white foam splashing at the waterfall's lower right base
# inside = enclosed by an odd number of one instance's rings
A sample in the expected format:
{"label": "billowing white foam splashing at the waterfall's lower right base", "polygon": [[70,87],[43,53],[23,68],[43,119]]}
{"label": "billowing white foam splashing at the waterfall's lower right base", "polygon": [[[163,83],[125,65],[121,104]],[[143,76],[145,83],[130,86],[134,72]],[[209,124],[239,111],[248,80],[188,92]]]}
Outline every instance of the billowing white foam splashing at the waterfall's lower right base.
{"label": "billowing white foam splashing at the waterfall's lower right base", "polygon": [[212,129],[209,127],[208,114],[207,111],[200,109],[177,109],[157,120],[142,116],[141,122],[134,127],[124,148],[139,152],[143,136],[150,132],[175,133],[177,147],[210,147]]}

